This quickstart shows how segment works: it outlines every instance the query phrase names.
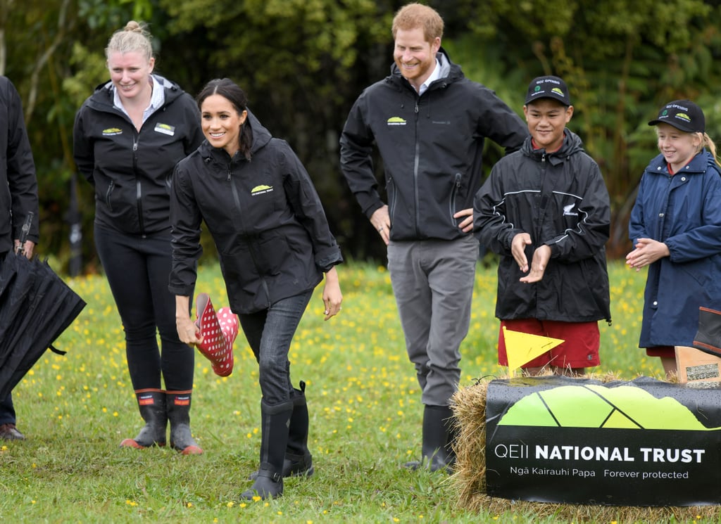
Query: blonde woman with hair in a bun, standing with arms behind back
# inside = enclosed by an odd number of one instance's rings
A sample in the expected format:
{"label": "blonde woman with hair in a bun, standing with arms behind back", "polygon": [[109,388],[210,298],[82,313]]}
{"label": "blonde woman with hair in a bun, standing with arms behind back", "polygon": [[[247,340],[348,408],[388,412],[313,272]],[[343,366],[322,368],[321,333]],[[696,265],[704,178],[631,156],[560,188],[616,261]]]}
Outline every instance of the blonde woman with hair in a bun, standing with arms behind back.
{"label": "blonde woman with hair in a bun, standing with arms behind back", "polygon": [[73,141],[75,163],[95,189],[95,248],[123,321],[128,371],[146,422],[120,446],[164,446],[169,421],[171,446],[198,454],[190,433],[195,350],[178,339],[167,289],[170,177],[203,141],[198,108],[176,83],[153,74],[150,35],[138,22],[115,32],[105,55],[110,81],[77,112]]}

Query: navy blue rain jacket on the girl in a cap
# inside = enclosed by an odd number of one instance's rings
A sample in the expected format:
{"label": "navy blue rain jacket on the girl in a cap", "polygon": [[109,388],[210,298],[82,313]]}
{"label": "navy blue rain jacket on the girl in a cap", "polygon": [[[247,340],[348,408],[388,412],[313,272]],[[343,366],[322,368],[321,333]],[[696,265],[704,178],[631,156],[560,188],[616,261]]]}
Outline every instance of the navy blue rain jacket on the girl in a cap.
{"label": "navy blue rain jacket on the girl in a cap", "polygon": [[721,175],[705,149],[669,175],[663,155],[643,172],[629,238],[665,243],[648,266],[639,346],[692,345],[699,306],[721,310]]}

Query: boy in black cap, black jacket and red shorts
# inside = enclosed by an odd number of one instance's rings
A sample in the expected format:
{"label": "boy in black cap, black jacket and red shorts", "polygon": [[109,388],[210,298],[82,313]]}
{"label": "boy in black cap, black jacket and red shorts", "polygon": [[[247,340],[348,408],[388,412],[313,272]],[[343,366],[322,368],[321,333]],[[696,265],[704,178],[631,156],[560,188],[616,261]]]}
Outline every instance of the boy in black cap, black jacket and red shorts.
{"label": "boy in black cap, black jacket and red shorts", "polygon": [[501,158],[474,199],[474,231],[500,255],[498,363],[503,328],[565,342],[521,366],[580,376],[598,366],[598,320],[611,322],[606,250],[611,204],[598,164],[565,126],[573,114],[557,76],[534,78],[523,106],[531,136]]}

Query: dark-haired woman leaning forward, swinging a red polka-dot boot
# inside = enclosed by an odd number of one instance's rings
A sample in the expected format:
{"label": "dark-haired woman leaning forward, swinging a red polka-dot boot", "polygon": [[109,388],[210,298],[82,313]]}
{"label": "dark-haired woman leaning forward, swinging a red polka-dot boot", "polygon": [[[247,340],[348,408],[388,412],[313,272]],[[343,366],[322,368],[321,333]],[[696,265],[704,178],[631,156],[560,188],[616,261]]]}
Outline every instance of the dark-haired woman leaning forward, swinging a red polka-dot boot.
{"label": "dark-haired woman leaning forward, swinging a red polka-dot boot", "polygon": [[340,248],[311,179],[286,141],[270,135],[228,78],[197,98],[205,142],[178,163],[171,194],[173,268],[180,340],[200,343],[190,318],[200,222],[221,260],[231,310],[258,361],[262,399],[260,469],[241,497],[283,494],[283,477],[310,475],[304,383],[294,389],[288,350],[323,280],[325,320],[340,311]]}

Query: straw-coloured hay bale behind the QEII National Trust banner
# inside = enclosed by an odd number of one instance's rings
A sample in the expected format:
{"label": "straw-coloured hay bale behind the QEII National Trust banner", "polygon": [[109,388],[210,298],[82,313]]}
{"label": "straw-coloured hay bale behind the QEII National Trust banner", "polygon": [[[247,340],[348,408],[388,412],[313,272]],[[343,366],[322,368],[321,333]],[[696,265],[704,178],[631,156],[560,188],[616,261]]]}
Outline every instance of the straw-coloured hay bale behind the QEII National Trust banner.
{"label": "straw-coloured hay bale behind the QEII National Trust banner", "polygon": [[[508,377],[499,377],[508,378]],[[604,382],[618,380],[617,376],[590,377]],[[632,507],[552,504],[526,502],[490,497],[486,494],[486,396],[490,379],[479,379],[470,387],[461,388],[451,399],[451,407],[459,425],[456,441],[456,472],[449,479],[456,491],[458,503],[466,509],[500,515],[533,515],[534,518],[554,518],[564,522],[686,522],[718,521],[721,509],[717,506]]]}

